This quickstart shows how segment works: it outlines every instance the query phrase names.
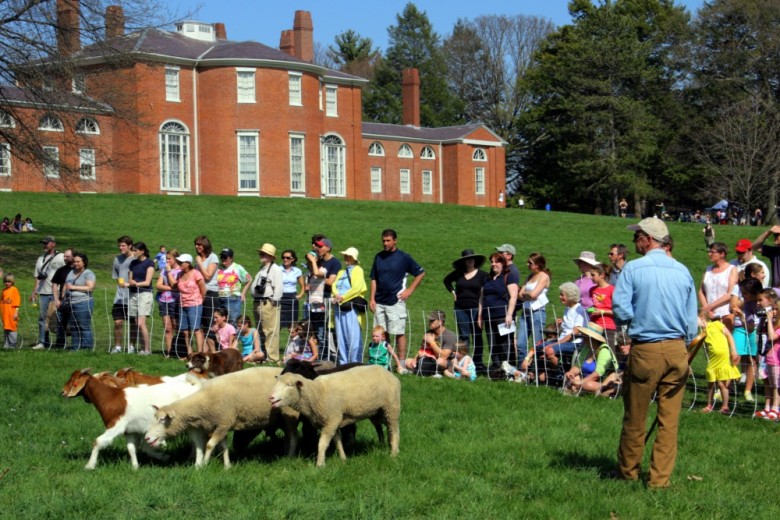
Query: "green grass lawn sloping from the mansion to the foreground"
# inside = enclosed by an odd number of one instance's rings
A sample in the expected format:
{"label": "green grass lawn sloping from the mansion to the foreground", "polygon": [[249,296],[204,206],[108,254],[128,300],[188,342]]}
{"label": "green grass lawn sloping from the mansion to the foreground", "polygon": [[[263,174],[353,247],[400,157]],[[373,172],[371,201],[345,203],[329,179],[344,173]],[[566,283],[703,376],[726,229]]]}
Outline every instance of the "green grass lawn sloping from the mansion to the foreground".
{"label": "green grass lawn sloping from the mansion to the foreground", "polygon": [[[263,242],[302,255],[316,232],[330,236],[338,251],[357,247],[368,267],[380,249],[381,230],[393,227],[399,247],[428,273],[410,301],[410,345],[420,339],[426,310],[451,309],[441,279],[462,249],[485,254],[510,242],[521,265],[528,253],[540,251],[557,285],[577,275],[572,258],[581,250],[595,251],[604,260],[610,243],[630,244],[631,239],[627,222],[616,218],[457,206],[24,193],[2,193],[0,205],[9,215],[30,215],[41,229],[36,235],[0,236],[0,266],[18,275],[27,294],[42,234],[55,235],[60,246],[87,252],[98,276],[97,292],[110,295],[115,240],[123,234],[150,247],[165,244],[187,252],[192,252],[196,235],[206,234],[215,249],[232,247],[236,260],[254,272],[255,249]],[[676,257],[698,279],[707,262],[701,226],[672,224],[670,229]],[[760,232],[717,231],[730,246]],[[361,425],[349,459],[343,463],[331,454],[321,469],[311,457],[280,458],[280,439],[261,438],[227,472],[219,460],[196,471],[183,440],[169,446],[170,463],[152,463],[140,455],[137,472],[130,468],[124,443],[116,441],[101,454],[97,470],[87,472],[82,468],[91,442],[103,426],[91,405],[59,397],[69,374],[82,367],[97,371],[128,365],[149,373],[184,370],[161,356],[107,355],[107,330],[100,330],[107,329],[107,318],[100,315],[105,309],[96,307],[101,343],[95,352],[0,354],[2,517],[644,519],[780,514],[771,499],[771,452],[778,426],[748,419],[752,409],[740,408],[731,419],[684,411],[672,488],[651,492],[600,476],[615,462],[619,400],[570,398],[551,389],[484,379],[465,383],[403,377],[397,459],[376,444],[370,425]],[[29,306],[23,311],[23,332],[34,335],[34,313]],[[686,408],[693,398],[689,392]],[[702,404],[699,393],[696,407]]]}

